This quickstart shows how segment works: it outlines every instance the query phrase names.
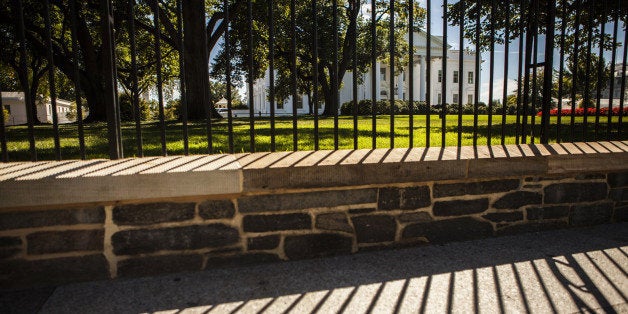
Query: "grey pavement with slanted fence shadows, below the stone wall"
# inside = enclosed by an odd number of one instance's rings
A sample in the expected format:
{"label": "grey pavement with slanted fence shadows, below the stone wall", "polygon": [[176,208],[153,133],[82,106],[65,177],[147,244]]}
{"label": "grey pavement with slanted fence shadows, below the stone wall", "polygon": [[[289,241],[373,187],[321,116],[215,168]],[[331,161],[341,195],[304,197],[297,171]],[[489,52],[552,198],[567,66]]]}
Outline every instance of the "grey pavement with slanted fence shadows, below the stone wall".
{"label": "grey pavement with slanted fence shadows, below the stone wall", "polygon": [[628,313],[628,223],[0,294],[2,313]]}

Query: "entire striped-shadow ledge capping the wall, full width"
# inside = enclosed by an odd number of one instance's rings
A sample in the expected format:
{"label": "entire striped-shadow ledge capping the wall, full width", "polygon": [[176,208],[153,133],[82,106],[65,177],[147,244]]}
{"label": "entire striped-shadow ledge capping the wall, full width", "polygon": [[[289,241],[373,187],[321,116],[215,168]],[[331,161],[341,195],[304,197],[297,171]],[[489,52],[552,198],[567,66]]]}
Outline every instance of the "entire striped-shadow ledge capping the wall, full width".
{"label": "entire striped-shadow ledge capping the wall, full width", "polygon": [[628,142],[300,151],[0,165],[0,209],[625,170]]}

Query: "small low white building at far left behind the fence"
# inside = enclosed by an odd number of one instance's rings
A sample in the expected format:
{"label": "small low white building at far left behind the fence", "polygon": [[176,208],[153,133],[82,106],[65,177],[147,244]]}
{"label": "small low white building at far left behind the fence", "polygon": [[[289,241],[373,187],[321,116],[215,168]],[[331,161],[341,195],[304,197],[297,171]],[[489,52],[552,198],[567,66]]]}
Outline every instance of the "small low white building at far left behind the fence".
{"label": "small low white building at far left behind the fence", "polygon": [[[59,123],[71,123],[66,117],[72,110],[72,102],[57,99],[57,117]],[[2,92],[2,107],[9,112],[9,119],[6,125],[26,124],[26,105],[24,103],[23,92]],[[42,123],[52,123],[52,103],[50,99],[37,103],[37,119]]]}

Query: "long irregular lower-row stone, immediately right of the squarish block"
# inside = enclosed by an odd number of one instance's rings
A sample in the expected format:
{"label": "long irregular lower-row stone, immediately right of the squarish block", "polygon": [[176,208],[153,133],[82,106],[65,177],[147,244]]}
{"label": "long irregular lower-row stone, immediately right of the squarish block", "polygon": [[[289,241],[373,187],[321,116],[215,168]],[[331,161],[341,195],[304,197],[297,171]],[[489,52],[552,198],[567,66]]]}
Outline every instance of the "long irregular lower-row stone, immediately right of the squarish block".
{"label": "long irregular lower-row stone, immediately right of the squarish block", "polygon": [[493,226],[489,222],[472,217],[439,220],[411,224],[404,228],[403,238],[425,237],[430,243],[465,241],[486,238],[493,235]]}

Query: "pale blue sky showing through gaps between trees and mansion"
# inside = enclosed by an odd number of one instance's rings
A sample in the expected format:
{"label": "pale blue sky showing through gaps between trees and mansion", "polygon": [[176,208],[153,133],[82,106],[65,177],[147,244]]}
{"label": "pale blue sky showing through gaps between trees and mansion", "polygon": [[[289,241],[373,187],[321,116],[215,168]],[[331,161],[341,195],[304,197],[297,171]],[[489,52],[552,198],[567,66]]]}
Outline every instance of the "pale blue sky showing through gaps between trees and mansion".
{"label": "pale blue sky showing through gaps between trees and mansion", "polygon": [[[423,7],[426,8],[426,1],[427,0],[418,0],[418,4]],[[448,1],[449,4],[453,4],[456,3],[458,0],[444,0],[444,1]],[[367,5],[368,7],[368,5]],[[436,35],[436,36],[442,36],[443,35],[443,0],[441,1],[432,1],[431,2],[431,30],[432,30],[432,35]],[[619,31],[618,31],[618,42],[623,42],[623,38],[624,38],[624,31],[623,31],[623,25],[620,22],[619,25]],[[488,30],[485,30],[488,31]],[[608,23],[605,26],[605,32],[607,34],[612,34],[613,31],[613,23]],[[556,36],[559,36],[560,30],[557,29],[556,30]],[[459,37],[459,27],[453,27],[453,26],[448,26],[447,27],[447,42],[449,43],[449,45],[451,45],[453,47],[453,49],[458,49],[459,48],[459,43],[460,41],[460,37]],[[538,46],[538,61],[539,62],[543,62],[544,60],[544,51],[545,51],[545,47],[544,47],[544,41],[545,38],[544,36],[539,36],[539,46]],[[220,46],[220,42],[219,44],[216,45],[216,48],[214,48],[211,51],[211,59],[213,60],[213,58],[217,55],[218,53],[218,48]],[[465,47],[463,48],[469,48],[471,50],[475,50],[475,46],[473,45],[473,43],[471,43],[470,41],[465,39]],[[599,48],[597,47],[593,47],[593,51],[597,53]],[[516,88],[517,88],[517,83],[516,83],[516,77],[517,77],[517,70],[518,70],[518,57],[519,57],[519,40],[515,39],[514,41],[512,41],[510,43],[510,47],[509,47],[509,65],[508,65],[508,75],[504,76],[504,61],[505,61],[505,53],[504,53],[505,47],[503,45],[495,45],[495,58],[494,58],[494,63],[495,63],[495,72],[493,74],[493,80],[494,80],[494,84],[493,84],[493,94],[494,94],[494,99],[500,100],[502,101],[502,95],[503,95],[503,85],[504,85],[504,80],[507,80],[507,90],[508,90],[508,94],[511,94],[513,92],[516,92]],[[621,62],[621,57],[623,56],[623,48],[620,47],[616,50],[617,53],[617,61],[616,63],[620,63]],[[555,69],[558,69],[559,66],[559,62],[560,62],[560,54],[559,54],[559,50],[558,49],[554,49],[554,67]],[[604,53],[604,58],[606,59],[607,62],[610,62],[611,60],[611,52],[610,51],[606,51]],[[480,101],[483,101],[485,103],[488,103],[488,97],[489,97],[489,79],[490,79],[490,53],[489,52],[484,52],[481,55],[481,59],[483,60],[483,63],[481,65],[481,72],[480,72]],[[243,85],[242,90],[240,91],[241,95],[246,94],[246,84]]]}

